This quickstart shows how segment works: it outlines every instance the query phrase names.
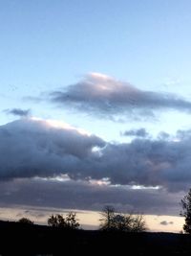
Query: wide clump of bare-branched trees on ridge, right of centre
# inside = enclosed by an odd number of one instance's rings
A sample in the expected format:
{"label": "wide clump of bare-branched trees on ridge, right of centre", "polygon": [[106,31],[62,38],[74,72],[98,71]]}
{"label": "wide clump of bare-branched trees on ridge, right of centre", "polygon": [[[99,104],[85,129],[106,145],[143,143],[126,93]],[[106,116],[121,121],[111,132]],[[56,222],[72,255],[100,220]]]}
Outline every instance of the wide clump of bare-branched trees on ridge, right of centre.
{"label": "wide clump of bare-branched trees on ridge, right of centre", "polygon": [[118,214],[113,206],[105,206],[99,221],[101,230],[114,230],[125,232],[143,232],[147,230],[142,215]]}

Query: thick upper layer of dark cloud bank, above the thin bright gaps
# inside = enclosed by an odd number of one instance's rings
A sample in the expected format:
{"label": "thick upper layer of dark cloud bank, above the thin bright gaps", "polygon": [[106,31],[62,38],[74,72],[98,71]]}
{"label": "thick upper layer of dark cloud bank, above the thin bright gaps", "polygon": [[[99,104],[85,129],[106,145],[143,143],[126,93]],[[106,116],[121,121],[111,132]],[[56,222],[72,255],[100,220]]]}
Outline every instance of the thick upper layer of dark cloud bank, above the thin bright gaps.
{"label": "thick upper layer of dark cloud bank, above the thin bright gaps", "polygon": [[181,139],[141,138],[115,144],[66,124],[21,119],[0,127],[0,179],[107,177],[114,185],[186,191],[191,182],[190,134],[188,130],[181,132]]}

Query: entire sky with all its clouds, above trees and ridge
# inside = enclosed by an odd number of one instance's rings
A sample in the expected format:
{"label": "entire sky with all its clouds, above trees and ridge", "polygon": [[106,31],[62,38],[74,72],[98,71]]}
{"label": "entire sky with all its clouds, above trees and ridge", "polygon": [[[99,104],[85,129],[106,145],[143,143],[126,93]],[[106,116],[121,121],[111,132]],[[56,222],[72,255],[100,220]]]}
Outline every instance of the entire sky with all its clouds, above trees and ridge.
{"label": "entire sky with all its clouds, above trees and ridge", "polygon": [[94,226],[110,204],[180,231],[190,10],[189,0],[0,1],[1,218],[73,209]]}

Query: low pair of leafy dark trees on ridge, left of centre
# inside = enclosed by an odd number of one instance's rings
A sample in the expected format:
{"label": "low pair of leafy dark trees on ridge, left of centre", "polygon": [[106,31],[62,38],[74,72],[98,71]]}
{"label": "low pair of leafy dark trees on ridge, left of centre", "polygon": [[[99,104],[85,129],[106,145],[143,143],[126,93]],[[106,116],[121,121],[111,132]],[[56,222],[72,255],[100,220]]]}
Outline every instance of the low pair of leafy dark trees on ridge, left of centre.
{"label": "low pair of leafy dark trees on ridge, left of centre", "polygon": [[79,222],[76,220],[76,214],[74,212],[69,212],[64,218],[60,214],[51,215],[48,219],[48,224],[53,227],[62,227],[69,229],[77,229],[79,227]]}

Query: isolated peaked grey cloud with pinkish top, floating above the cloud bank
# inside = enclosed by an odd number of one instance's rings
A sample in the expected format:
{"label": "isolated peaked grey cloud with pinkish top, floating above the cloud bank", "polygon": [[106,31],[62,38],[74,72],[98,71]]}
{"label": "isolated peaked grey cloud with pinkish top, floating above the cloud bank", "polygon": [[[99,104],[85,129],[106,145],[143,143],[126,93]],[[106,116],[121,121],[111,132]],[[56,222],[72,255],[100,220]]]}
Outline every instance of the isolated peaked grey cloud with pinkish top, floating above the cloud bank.
{"label": "isolated peaked grey cloud with pinkish top, floating above the cloud bank", "polygon": [[191,111],[191,102],[176,95],[140,90],[129,82],[98,73],[53,91],[50,99],[59,106],[110,119],[117,119],[117,116],[154,117],[155,111],[161,109]]}

